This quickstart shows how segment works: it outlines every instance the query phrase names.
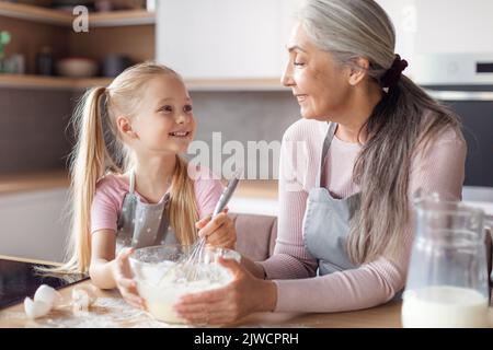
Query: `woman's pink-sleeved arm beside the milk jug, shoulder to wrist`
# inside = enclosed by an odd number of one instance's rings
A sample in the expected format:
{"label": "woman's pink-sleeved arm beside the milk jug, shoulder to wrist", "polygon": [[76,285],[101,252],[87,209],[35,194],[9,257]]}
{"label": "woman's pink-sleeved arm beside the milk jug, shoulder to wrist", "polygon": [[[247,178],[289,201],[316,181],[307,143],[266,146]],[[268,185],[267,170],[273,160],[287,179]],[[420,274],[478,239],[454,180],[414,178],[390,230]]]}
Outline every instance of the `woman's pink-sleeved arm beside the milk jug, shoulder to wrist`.
{"label": "woman's pink-sleeved arm beside the milk jug, shoulder to wrist", "polygon": [[[409,198],[416,190],[461,198],[467,147],[455,133],[445,133],[424,155],[416,155],[410,174]],[[405,223],[399,252],[386,254],[357,269],[305,280],[275,281],[276,311],[337,312],[371,307],[391,300],[405,284],[414,237],[413,217]]]}

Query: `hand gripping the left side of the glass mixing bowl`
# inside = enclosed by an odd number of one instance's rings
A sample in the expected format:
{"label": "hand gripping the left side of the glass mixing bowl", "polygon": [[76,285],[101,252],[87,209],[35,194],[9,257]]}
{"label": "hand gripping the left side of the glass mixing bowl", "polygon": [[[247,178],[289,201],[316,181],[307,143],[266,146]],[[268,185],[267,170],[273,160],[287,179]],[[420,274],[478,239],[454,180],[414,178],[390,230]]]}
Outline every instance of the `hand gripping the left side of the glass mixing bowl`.
{"label": "hand gripping the left side of the glass mixing bowl", "polygon": [[122,249],[115,260],[113,260],[113,278],[123,299],[128,304],[144,310],[145,301],[137,292],[137,283],[131,277],[130,262],[128,261],[131,253],[134,253],[134,248]]}

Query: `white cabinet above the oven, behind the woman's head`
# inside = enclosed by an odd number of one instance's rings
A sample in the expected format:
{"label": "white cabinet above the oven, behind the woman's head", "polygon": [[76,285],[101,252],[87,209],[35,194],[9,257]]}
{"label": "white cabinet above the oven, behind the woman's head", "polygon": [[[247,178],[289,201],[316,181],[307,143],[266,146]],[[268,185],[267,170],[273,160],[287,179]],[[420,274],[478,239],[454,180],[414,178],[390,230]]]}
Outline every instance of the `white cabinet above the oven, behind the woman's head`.
{"label": "white cabinet above the oven, behind the woman's head", "polygon": [[410,61],[433,54],[493,51],[492,0],[377,0],[395,25],[397,52]]}

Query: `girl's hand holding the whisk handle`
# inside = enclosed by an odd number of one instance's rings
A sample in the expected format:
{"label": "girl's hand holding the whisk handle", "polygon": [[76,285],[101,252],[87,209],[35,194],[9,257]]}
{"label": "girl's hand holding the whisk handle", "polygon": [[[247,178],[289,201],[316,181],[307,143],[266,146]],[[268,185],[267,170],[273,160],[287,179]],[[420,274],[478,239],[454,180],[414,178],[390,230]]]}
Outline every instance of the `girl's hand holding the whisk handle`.
{"label": "girl's hand holding the whisk handle", "polygon": [[216,218],[210,215],[199,220],[195,226],[199,229],[198,236],[205,237],[206,243],[220,248],[234,249],[237,243],[237,230],[234,222],[228,217],[225,209]]}

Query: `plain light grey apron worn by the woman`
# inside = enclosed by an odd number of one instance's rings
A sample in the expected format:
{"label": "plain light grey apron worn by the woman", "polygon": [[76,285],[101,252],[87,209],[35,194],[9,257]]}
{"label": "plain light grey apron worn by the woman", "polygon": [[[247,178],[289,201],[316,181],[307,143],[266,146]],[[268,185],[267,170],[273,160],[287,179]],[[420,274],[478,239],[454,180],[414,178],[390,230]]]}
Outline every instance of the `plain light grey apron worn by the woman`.
{"label": "plain light grey apron worn by the woman", "polygon": [[305,246],[318,260],[320,276],[357,268],[347,256],[346,242],[349,234],[349,221],[359,208],[360,192],[344,199],[335,199],[326,188],[320,185],[325,156],[336,127],[335,122],[329,125],[316,186],[308,196],[303,218]]}

